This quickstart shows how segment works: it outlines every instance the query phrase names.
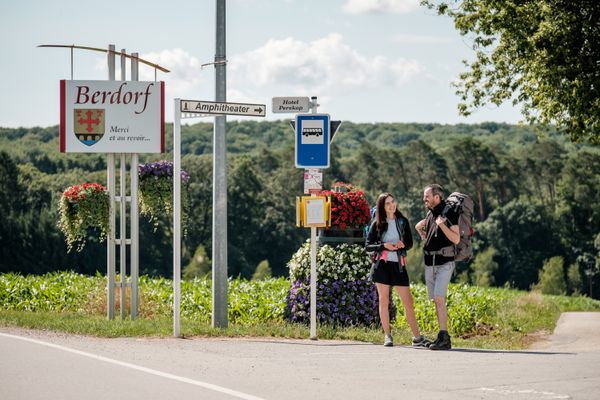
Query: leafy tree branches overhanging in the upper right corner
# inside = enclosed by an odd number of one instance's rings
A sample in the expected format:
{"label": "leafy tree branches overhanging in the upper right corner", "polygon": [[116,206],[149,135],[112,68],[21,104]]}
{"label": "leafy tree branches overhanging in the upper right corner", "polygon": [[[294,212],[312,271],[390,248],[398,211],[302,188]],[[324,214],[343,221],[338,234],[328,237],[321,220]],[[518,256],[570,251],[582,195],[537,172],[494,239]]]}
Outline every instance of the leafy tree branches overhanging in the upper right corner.
{"label": "leafy tree branches overhanging in the upper right corner", "polygon": [[[530,123],[556,123],[573,141],[600,143],[600,2],[423,0],[472,35],[475,60],[456,83],[469,115],[485,104],[522,105]],[[594,22],[596,21],[596,22]]]}

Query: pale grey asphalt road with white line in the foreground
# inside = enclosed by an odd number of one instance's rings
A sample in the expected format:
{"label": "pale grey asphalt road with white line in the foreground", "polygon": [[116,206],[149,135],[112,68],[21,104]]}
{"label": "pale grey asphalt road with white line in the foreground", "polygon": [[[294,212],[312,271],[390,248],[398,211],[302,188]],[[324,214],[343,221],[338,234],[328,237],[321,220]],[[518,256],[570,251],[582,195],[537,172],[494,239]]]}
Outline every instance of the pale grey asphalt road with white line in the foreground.
{"label": "pale grey asphalt road with white line in the foreground", "polygon": [[600,313],[526,351],[0,328],[0,399],[600,399]]}

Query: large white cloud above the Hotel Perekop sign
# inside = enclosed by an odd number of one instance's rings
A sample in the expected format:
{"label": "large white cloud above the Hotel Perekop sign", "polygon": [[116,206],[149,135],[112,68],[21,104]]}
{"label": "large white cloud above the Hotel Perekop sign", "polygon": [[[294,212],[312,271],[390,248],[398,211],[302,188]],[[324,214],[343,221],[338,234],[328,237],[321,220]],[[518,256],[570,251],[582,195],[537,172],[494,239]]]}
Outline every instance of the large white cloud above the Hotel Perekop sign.
{"label": "large white cloud above the Hotel Perekop sign", "polygon": [[400,86],[424,70],[416,60],[360,54],[337,33],[312,42],[271,39],[231,57],[229,67],[228,78],[235,87],[271,87],[305,95]]}

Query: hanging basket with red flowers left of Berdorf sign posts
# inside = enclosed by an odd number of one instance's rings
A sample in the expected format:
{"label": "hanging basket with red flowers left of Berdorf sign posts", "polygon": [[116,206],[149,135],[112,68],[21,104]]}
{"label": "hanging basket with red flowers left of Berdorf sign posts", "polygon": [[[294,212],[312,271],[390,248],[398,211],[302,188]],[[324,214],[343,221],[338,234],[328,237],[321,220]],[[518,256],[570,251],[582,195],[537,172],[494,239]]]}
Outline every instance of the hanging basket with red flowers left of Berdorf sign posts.
{"label": "hanging basket with red flowers left of Berdorf sign posts", "polygon": [[58,205],[58,227],[65,235],[67,249],[77,244],[77,251],[85,246],[88,228],[100,231],[100,241],[108,236],[110,196],[98,183],[84,183],[67,188]]}

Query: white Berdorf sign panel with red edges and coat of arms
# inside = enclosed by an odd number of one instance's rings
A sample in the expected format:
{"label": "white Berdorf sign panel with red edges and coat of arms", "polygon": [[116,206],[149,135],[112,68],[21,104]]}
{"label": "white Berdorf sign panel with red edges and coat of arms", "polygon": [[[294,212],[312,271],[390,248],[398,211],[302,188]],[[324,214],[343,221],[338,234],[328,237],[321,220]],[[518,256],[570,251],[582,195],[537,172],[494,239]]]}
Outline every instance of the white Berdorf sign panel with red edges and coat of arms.
{"label": "white Berdorf sign panel with red edges and coat of arms", "polygon": [[60,81],[60,151],[163,153],[164,82]]}

